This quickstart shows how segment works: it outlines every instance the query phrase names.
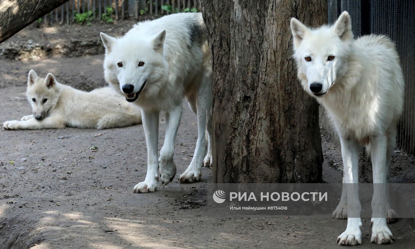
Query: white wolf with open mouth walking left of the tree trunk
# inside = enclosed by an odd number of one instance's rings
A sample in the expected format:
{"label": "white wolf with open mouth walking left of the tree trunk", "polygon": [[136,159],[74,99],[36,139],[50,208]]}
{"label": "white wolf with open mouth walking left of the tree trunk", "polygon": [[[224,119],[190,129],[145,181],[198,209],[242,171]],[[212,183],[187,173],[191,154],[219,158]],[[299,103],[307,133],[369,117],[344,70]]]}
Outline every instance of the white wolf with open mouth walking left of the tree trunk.
{"label": "white wolf with open mouth walking left of the tree trunk", "polygon": [[[105,45],[105,79],[119,88],[127,101],[142,108],[147,175],[134,186],[134,193],[156,190],[159,175],[163,184],[176,175],[174,141],[183,98],[198,116],[198,140],[180,181],[199,181],[202,163],[212,163],[212,69],[202,14],[173,14],[139,22],[120,38],[100,35]],[[160,111],[166,112],[166,137],[158,159]]]}

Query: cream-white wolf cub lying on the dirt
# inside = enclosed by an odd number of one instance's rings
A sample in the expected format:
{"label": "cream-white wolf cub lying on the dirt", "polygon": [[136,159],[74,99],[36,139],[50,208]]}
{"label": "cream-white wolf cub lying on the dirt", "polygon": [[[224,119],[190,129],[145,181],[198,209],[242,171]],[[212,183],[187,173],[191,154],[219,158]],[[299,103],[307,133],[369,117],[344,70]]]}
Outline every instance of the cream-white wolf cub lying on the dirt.
{"label": "cream-white wolf cub lying on the dirt", "polygon": [[24,116],[21,121],[6,121],[5,129],[107,129],[141,123],[139,107],[125,101],[111,87],[83,92],[62,85],[51,73],[39,78],[30,70],[26,95],[33,115]]}

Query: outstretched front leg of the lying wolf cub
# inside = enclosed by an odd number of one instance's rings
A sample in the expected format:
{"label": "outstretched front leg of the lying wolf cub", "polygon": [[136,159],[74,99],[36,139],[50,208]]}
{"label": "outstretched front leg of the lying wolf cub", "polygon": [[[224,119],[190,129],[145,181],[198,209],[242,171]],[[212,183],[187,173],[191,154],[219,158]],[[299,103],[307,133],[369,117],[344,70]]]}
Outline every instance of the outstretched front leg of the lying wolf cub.
{"label": "outstretched front leg of the lying wolf cub", "polygon": [[60,116],[49,116],[43,120],[34,118],[18,121],[11,120],[3,123],[4,129],[61,129],[65,128],[64,119]]}

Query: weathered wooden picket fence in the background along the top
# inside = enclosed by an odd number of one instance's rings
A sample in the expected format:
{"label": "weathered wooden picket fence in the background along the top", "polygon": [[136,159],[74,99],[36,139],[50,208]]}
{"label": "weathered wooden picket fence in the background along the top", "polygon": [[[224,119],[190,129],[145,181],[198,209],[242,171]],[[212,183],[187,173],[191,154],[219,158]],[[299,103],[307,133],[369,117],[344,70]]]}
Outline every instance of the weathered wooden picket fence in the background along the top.
{"label": "weathered wooden picket fence in the background along the top", "polygon": [[[110,9],[108,9],[110,8]],[[37,22],[56,25],[72,24],[77,20],[77,14],[89,21],[134,18],[139,19],[142,15],[161,16],[176,12],[200,11],[200,0],[69,0],[56,8],[50,14],[45,15]]]}

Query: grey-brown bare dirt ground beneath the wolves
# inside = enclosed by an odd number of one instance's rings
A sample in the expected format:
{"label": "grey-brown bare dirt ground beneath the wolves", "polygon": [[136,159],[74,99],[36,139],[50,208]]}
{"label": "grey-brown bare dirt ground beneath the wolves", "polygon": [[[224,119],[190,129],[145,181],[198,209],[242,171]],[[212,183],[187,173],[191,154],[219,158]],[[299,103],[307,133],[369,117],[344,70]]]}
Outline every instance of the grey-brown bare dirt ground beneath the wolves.
{"label": "grey-brown bare dirt ground beneath the wolves", "polygon": [[[1,122],[30,114],[24,97],[27,72],[55,74],[61,83],[90,90],[104,85],[103,55],[0,61]],[[146,173],[141,125],[121,129],[0,131],[0,248],[339,248],[346,220],[327,216],[220,218],[204,205],[211,169],[200,183],[180,184],[197,138],[196,116],[183,103],[175,161],[178,174],[168,186],[149,194],[132,188]],[[160,142],[165,122],[160,125]],[[97,146],[98,151],[91,151]],[[341,182],[339,151],[323,137],[326,182]],[[395,161],[413,165],[397,152]],[[337,164],[338,163],[338,164]],[[399,164],[400,164],[399,163]],[[394,166],[393,162],[393,168]],[[401,173],[403,172],[403,173]],[[412,182],[413,169],[392,172],[394,182]],[[415,248],[413,220],[390,225],[395,243],[370,243],[370,218],[364,217],[359,248]]]}

